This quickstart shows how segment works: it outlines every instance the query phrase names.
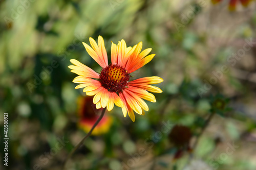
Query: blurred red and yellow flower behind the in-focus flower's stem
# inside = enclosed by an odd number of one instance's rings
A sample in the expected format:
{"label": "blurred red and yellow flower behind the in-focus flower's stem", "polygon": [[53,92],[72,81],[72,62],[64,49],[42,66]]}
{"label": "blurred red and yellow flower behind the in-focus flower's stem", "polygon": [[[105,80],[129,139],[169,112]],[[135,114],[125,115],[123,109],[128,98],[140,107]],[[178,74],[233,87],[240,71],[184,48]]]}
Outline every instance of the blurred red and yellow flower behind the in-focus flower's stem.
{"label": "blurred red and yellow flower behind the in-focus flower's stem", "polygon": [[[84,132],[88,133],[99,118],[98,113],[101,111],[102,108],[96,109],[95,104],[93,104],[92,96],[78,98],[78,127],[84,130]],[[107,133],[110,130],[112,123],[112,117],[104,115],[99,124],[93,130],[92,135],[101,135]]]}

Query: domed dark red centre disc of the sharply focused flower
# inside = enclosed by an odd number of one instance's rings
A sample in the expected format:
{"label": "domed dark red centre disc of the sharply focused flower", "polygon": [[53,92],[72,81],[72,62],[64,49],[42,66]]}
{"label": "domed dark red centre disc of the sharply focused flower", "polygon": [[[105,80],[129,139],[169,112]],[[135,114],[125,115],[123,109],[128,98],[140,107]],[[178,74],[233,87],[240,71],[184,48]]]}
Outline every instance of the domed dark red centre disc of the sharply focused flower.
{"label": "domed dark red centre disc of the sharply focused flower", "polygon": [[127,86],[130,79],[129,72],[117,64],[110,64],[100,71],[99,79],[102,87],[110,92],[120,92]]}

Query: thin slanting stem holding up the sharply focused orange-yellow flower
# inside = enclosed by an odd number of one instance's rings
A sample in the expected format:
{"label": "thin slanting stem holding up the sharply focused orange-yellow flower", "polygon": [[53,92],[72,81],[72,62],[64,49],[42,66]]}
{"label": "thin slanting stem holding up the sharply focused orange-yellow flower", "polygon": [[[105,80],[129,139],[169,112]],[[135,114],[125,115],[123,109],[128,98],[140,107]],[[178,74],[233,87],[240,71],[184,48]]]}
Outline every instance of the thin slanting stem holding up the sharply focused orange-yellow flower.
{"label": "thin slanting stem holding up the sharply focused orange-yellow flower", "polygon": [[102,117],[104,116],[104,113],[106,111],[106,107],[102,110],[99,118],[97,119],[97,121],[95,122],[95,124],[93,125],[92,129],[90,130],[90,132],[84,136],[84,138],[76,145],[76,147],[72,150],[72,152],[69,154],[68,158],[66,159],[66,161],[63,163],[63,167],[61,169],[64,169],[68,160],[72,157],[72,155],[75,153],[75,151],[81,147],[81,145],[84,143],[84,140],[86,140],[92,133],[92,131],[94,130],[94,128],[98,125],[98,123],[100,122],[100,120],[102,119]]}

